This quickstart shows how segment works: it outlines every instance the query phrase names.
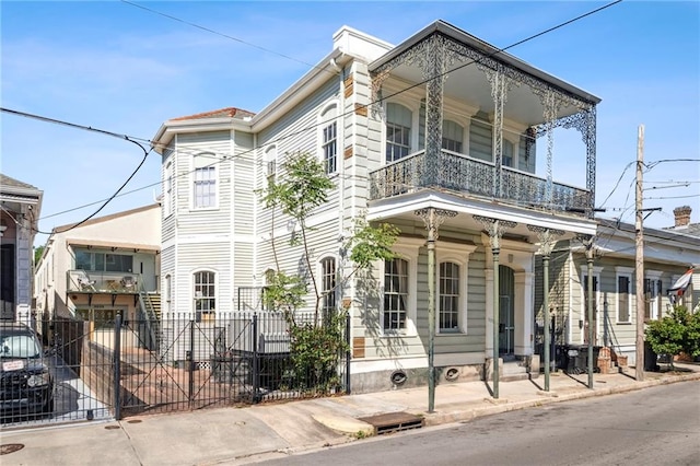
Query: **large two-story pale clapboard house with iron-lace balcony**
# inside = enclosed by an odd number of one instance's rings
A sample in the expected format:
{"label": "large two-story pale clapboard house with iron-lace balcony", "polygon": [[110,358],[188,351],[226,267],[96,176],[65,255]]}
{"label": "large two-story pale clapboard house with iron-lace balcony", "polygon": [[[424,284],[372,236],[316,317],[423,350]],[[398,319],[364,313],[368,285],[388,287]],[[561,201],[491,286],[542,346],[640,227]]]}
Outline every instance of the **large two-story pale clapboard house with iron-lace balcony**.
{"label": "large two-story pale clapboard house with iron-lace balcony", "polygon": [[[395,371],[406,386],[425,382],[429,301],[442,374],[483,377],[494,350],[528,363],[535,253],[596,233],[599,102],[442,21],[398,46],[343,26],[260,113],[224,108],[159,129],[164,313],[215,321],[247,308],[240,292],[276,268],[271,237],[280,266],[300,269],[300,248],[285,243],[299,230],[272,221],[256,190],[310,152],[336,184],[308,221],[322,291],[350,275],[343,240],[355,219],[401,231],[400,257],[353,276],[331,301],[352,317],[353,392],[389,388]],[[555,154],[555,129],[580,132],[578,154]]]}

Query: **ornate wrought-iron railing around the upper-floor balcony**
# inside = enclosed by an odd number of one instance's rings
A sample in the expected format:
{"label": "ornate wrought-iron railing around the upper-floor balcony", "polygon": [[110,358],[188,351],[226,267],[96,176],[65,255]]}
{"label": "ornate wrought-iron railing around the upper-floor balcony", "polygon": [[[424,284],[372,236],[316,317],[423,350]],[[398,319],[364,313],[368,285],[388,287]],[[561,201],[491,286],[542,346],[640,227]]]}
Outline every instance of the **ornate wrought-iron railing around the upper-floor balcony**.
{"label": "ornate wrought-iron railing around the upper-floor balcony", "polygon": [[508,166],[499,171],[468,155],[443,150],[432,167],[428,163],[421,151],[370,173],[370,199],[438,188],[545,210],[586,211],[592,206],[586,189],[549,185],[546,178]]}

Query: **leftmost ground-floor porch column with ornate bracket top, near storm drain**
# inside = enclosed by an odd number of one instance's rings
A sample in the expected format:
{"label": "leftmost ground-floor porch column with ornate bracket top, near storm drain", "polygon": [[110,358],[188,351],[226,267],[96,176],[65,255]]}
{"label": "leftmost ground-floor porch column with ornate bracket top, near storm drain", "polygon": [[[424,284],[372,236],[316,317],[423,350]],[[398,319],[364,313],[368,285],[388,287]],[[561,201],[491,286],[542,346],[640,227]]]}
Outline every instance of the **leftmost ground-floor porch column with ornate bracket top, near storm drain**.
{"label": "leftmost ground-floor porch column with ornate bracket top, near storm drain", "polygon": [[457,212],[444,209],[419,209],[415,212],[428,230],[428,412],[435,408],[435,241],[438,230]]}

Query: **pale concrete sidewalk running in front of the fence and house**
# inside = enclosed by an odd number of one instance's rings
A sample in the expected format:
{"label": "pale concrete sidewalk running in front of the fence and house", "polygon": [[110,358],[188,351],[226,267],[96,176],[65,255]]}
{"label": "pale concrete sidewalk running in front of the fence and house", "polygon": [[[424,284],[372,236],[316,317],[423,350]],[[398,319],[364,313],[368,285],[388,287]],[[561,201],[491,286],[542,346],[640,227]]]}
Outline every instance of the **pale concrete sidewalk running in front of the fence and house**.
{"label": "pale concrete sidewalk running in front of the fence and house", "polygon": [[9,465],[212,465],[245,464],[264,458],[337,445],[364,438],[373,428],[358,418],[409,412],[424,418],[424,426],[464,421],[480,416],[541,406],[591,396],[603,396],[685,381],[700,381],[700,365],[676,364],[676,373],[644,373],[644,382],[627,374],[561,372],[534,381],[501,382],[493,400],[483,382],[454,383],[435,388],[435,409],[428,413],[428,388],[317,398],[246,408],[202,409],[2,432],[3,453],[9,444],[22,444],[0,462]]}

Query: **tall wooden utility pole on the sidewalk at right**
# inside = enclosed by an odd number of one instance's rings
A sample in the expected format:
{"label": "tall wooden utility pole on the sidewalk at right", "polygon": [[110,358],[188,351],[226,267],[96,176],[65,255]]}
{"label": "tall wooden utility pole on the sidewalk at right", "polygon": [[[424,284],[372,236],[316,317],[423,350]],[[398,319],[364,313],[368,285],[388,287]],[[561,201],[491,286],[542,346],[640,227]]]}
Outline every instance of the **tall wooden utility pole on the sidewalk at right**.
{"label": "tall wooden utility pole on the sidewalk at right", "polygon": [[634,378],[644,380],[644,228],[642,217],[642,166],[644,165],[644,125],[639,126],[637,133],[637,221],[635,234],[635,281],[637,281],[637,358],[634,362]]}

